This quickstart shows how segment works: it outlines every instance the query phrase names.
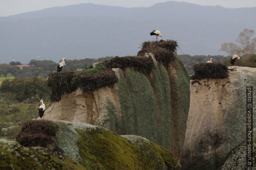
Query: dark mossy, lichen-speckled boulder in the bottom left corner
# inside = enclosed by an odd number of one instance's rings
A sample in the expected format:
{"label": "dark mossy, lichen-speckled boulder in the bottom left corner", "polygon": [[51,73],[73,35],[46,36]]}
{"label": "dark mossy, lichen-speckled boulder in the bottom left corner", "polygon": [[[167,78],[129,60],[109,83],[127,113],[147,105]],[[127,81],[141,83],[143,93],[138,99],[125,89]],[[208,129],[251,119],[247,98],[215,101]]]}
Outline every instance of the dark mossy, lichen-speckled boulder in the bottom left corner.
{"label": "dark mossy, lichen-speckled boulder in the bottom left corner", "polygon": [[0,169],[3,170],[86,170],[74,160],[50,149],[25,148],[11,140],[0,139]]}

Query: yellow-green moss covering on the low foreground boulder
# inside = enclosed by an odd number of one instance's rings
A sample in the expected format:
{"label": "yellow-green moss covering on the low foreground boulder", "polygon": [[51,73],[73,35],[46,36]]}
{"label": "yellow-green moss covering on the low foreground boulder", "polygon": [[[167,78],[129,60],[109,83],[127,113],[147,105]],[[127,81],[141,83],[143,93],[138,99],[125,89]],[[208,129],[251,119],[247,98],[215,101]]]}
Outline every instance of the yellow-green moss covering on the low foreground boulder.
{"label": "yellow-green moss covering on the low foreground boulder", "polygon": [[79,163],[88,169],[171,170],[179,164],[170,151],[152,142],[143,142],[138,147],[102,128],[76,131],[80,135],[77,141]]}

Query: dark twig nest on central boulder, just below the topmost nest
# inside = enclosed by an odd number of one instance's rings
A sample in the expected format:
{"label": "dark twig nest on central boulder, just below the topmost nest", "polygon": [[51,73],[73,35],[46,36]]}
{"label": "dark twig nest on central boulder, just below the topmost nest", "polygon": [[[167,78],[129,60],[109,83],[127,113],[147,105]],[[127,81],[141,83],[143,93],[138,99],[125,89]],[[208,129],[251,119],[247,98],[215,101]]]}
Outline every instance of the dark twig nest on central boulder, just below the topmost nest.
{"label": "dark twig nest on central boulder, just below the topmost nest", "polygon": [[152,58],[147,57],[115,57],[104,63],[107,68],[133,67],[135,71],[149,74],[154,67]]}

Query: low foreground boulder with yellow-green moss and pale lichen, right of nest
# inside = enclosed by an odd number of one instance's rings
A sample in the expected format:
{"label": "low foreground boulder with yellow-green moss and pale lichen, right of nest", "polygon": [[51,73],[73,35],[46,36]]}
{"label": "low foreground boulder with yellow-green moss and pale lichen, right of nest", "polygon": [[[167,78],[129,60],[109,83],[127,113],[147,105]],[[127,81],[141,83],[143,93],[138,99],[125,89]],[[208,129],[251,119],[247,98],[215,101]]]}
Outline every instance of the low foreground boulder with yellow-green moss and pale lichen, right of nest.
{"label": "low foreground boulder with yellow-green moss and pale lichen, right of nest", "polygon": [[86,123],[54,121],[55,143],[64,155],[87,169],[173,170],[179,160],[169,150],[140,136],[118,134]]}

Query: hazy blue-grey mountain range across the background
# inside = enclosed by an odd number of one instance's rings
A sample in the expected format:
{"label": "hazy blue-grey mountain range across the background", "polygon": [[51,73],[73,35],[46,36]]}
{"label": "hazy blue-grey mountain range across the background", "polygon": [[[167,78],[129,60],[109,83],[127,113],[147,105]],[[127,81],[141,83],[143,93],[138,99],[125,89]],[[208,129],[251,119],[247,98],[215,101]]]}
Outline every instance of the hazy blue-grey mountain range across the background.
{"label": "hazy blue-grey mountain range across the background", "polygon": [[[222,42],[255,28],[256,8],[230,9],[184,2],[123,8],[95,4],[53,7],[0,17],[0,62],[135,55],[149,32],[179,40],[185,54],[217,55]],[[182,52],[179,52],[182,53]]]}

